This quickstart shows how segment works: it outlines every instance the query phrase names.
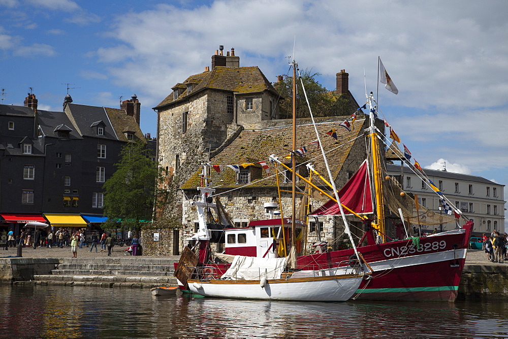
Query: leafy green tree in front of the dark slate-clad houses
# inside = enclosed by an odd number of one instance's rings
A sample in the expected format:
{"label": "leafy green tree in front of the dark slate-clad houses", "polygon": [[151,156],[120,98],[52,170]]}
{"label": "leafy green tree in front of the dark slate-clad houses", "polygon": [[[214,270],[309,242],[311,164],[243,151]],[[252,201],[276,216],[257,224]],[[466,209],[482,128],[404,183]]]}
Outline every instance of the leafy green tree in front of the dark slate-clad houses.
{"label": "leafy green tree in front of the dark slate-clad houses", "polygon": [[159,188],[162,175],[150,160],[144,143],[128,143],[121,151],[116,172],[104,183],[106,228],[134,229],[139,237],[143,222],[152,219],[154,208],[164,203]]}

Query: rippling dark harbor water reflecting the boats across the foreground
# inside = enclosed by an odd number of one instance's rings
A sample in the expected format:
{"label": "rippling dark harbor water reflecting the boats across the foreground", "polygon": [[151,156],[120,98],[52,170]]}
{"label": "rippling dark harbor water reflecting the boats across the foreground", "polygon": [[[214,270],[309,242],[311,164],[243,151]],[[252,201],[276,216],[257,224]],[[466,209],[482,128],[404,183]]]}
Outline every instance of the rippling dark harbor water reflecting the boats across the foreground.
{"label": "rippling dark harbor water reflecting the boats across the foreground", "polygon": [[3,285],[0,337],[507,337],[496,300],[284,302],[148,289]]}

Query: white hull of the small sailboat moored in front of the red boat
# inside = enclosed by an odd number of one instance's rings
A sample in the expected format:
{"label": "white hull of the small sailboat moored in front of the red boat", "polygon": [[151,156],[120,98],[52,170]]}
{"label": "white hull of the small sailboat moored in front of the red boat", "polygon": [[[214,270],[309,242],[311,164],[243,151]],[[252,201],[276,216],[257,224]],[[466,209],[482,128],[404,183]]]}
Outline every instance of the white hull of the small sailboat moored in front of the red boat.
{"label": "white hull of the small sailboat moored in front of the red boat", "polygon": [[298,301],[345,301],[350,299],[362,282],[363,275],[268,280],[264,287],[259,280],[188,280],[193,293],[204,296]]}

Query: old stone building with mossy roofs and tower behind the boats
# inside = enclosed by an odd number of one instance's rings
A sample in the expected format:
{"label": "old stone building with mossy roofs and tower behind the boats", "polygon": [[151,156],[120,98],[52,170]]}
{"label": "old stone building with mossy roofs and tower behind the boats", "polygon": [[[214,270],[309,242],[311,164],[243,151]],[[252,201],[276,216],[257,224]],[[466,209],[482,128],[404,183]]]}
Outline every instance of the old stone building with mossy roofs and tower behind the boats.
{"label": "old stone building with mossy roofs and tower behind the boats", "polygon": [[[363,129],[366,120],[363,113],[357,111],[360,106],[348,90],[348,74],[344,70],[337,73],[336,94],[347,97],[350,114],[359,115],[356,128],[351,132],[338,126],[349,116],[319,119],[323,143],[327,144],[327,150],[334,149],[329,157],[335,181],[341,186],[365,158]],[[266,171],[258,162],[269,162],[270,154],[285,152],[283,155],[287,155],[290,151],[292,122],[278,119],[278,104],[282,99],[259,67],[240,66],[234,49],[227,55],[223,55],[222,49],[216,51],[211,69],[206,66],[203,73],[189,76],[172,87],[170,95],[154,110],[158,112],[157,157],[167,174],[167,188],[174,194],[159,216],[158,226],[154,223],[152,229],[144,230],[145,249],[151,254],[178,254],[184,245],[182,239],[194,232],[197,217],[189,206],[189,199],[197,194],[201,164],[208,159],[219,166],[252,163],[239,174],[224,167],[220,174],[213,174],[213,186],[219,186],[217,193],[223,193],[221,201],[236,225],[266,217],[263,204],[278,201],[277,183],[273,176],[266,178]],[[298,124],[298,147],[306,146],[308,150],[298,159],[299,172],[307,177],[305,163],[317,156],[317,150],[308,145],[316,137],[308,119],[299,119]],[[332,128],[337,130],[337,140],[325,134]],[[354,141],[347,142],[351,140]],[[322,160],[312,162],[317,171],[326,173]],[[274,174],[272,164],[270,168]],[[290,176],[281,172],[279,177],[281,186],[287,190],[291,186],[287,179]],[[299,187],[304,189],[305,185],[299,183]],[[291,210],[289,199],[290,194],[284,192],[284,215]],[[303,215],[305,204],[300,200],[299,197]],[[317,207],[316,202],[311,205]],[[171,219],[172,216],[177,218]],[[309,233],[309,243],[317,239],[316,227],[323,238],[333,240],[340,235],[338,223],[333,218],[324,219],[317,225],[311,223],[314,231]],[[151,241],[154,233],[158,242]]]}

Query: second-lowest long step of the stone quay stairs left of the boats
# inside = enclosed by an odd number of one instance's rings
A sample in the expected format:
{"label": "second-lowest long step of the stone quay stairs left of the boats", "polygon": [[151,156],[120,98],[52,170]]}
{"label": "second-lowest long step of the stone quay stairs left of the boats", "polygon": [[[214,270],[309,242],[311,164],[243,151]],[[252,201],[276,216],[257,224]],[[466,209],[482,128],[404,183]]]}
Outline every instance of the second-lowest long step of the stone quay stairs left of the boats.
{"label": "second-lowest long step of the stone quay stairs left of the boats", "polygon": [[138,284],[173,284],[175,277],[141,277],[141,276],[101,276],[101,275],[37,275],[35,281],[62,282],[101,282],[101,283],[138,283]]}

